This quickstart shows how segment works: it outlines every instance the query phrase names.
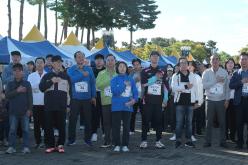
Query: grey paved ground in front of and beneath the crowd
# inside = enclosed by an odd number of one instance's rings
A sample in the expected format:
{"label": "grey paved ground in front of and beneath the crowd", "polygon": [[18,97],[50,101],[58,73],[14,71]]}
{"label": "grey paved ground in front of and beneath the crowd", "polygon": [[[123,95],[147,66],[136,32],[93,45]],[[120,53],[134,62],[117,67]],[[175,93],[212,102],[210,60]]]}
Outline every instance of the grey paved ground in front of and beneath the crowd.
{"label": "grey paved ground in front of and beneath the crowd", "polygon": [[[100,135],[101,136],[101,135]],[[99,136],[99,137],[100,137]],[[0,147],[0,165],[248,165],[248,150],[234,150],[234,144],[229,143],[229,149],[218,147],[217,140],[214,140],[211,148],[203,148],[203,137],[198,137],[195,143],[196,148],[182,147],[174,148],[174,142],[169,141],[171,134],[164,133],[162,142],[166,149],[155,149],[155,135],[150,135],[149,148],[141,150],[140,130],[130,137],[129,153],[113,153],[111,149],[102,149],[102,138],[94,146],[89,148],[83,144],[83,131],[78,130],[77,145],[65,147],[66,153],[45,154],[42,149],[31,148],[32,153],[23,155],[18,148],[14,155],[6,155],[6,148]],[[214,138],[218,136],[218,129],[214,130]],[[33,136],[32,136],[33,137]],[[31,140],[31,144],[33,144]]]}

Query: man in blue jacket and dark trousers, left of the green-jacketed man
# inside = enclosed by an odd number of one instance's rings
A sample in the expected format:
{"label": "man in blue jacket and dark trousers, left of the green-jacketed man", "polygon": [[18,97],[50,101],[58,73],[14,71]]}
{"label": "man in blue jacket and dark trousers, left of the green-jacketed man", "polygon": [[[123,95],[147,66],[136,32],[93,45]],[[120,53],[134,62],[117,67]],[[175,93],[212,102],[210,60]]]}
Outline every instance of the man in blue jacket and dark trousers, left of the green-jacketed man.
{"label": "man in blue jacket and dark trousers, left of the green-jacketed man", "polygon": [[96,105],[95,76],[92,69],[85,65],[85,55],[82,52],[76,52],[74,58],[77,64],[67,71],[72,83],[67,145],[75,144],[77,118],[79,112],[83,111],[85,120],[84,140],[87,145],[91,146],[91,105]]}

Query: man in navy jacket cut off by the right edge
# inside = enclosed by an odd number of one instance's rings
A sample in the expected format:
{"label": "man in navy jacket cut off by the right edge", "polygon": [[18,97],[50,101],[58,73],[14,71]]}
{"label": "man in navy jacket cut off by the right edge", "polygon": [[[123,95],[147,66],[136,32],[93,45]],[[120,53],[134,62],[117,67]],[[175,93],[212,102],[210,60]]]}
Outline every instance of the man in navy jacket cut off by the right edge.
{"label": "man in navy jacket cut off by the right edge", "polygon": [[[245,123],[248,123],[248,53],[240,55],[241,69],[233,73],[229,87],[234,89],[234,105],[236,106],[236,121],[237,121],[237,149],[242,149],[244,144],[243,130]],[[248,139],[246,140],[248,148]]]}

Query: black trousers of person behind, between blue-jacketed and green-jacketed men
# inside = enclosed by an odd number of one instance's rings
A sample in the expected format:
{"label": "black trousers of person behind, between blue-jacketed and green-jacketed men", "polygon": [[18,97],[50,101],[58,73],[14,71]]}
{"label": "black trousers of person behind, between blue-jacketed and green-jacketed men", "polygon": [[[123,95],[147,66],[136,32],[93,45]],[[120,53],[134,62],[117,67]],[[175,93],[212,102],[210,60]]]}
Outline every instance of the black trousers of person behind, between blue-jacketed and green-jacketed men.
{"label": "black trousers of person behind, between blue-jacketed and green-jacketed men", "polygon": [[[101,122],[100,122],[101,121]],[[102,103],[100,92],[97,92],[96,106],[92,105],[92,134],[97,133],[97,129],[100,128],[100,123],[102,124]]]}

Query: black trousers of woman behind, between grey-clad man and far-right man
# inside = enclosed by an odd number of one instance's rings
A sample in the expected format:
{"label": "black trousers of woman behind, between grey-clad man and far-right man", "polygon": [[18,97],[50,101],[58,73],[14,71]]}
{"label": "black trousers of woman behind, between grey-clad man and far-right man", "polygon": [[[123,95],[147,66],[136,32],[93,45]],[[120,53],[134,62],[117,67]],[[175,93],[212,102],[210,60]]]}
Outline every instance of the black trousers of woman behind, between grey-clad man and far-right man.
{"label": "black trousers of woman behind, between grey-clad man and far-right man", "polygon": [[233,99],[229,101],[226,110],[226,139],[235,140],[236,135],[236,110],[233,105]]}

